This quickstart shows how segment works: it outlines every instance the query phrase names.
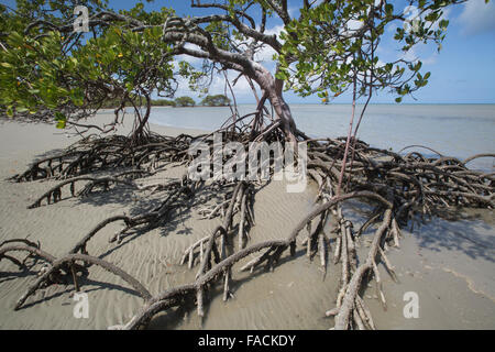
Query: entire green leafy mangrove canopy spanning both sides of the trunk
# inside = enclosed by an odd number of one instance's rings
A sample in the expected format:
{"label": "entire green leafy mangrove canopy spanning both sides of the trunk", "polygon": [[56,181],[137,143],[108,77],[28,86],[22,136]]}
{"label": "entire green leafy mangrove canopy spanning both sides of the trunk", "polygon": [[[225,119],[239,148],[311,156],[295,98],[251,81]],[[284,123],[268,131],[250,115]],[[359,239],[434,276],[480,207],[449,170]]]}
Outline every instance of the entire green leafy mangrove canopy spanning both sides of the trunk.
{"label": "entire green leafy mangrove canopy spanning both sides of the trunk", "polygon": [[[193,0],[211,15],[184,18],[167,8],[145,11],[143,3],[116,12],[107,1],[89,0],[90,33],[80,33],[73,30],[79,1],[18,0],[15,10],[0,6],[0,107],[8,116],[48,111],[63,128],[108,99],[123,107],[152,92],[172,97],[177,76],[207,92],[215,73],[233,69],[264,90],[277,89],[256,62],[266,47],[275,53],[277,82],[301,96],[317,92],[328,101],[355,87],[369,97],[388,89],[400,101],[427,85],[430,73],[405,55],[381,59],[387,26],[396,25],[393,40],[403,52],[430,42],[440,50],[449,24],[442,10],[460,2],[408,1],[417,14],[411,22],[404,8],[385,0],[304,0],[297,18],[286,0]],[[266,32],[271,19],[282,21],[279,36]]]}

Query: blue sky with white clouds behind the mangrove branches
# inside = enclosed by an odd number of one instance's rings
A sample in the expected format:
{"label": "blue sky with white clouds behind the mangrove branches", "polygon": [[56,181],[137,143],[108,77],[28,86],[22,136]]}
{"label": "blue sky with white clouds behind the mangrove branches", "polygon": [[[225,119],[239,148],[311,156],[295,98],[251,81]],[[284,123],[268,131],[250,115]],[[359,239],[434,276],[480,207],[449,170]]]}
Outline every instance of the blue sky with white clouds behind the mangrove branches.
{"label": "blue sky with white clouds behind the mangrove branches", "polygon": [[[13,0],[0,0],[0,3],[12,6]],[[135,4],[133,0],[109,0],[111,8],[130,9]],[[204,2],[208,2],[205,0]],[[298,14],[298,8],[302,0],[289,0],[289,13]],[[172,7],[180,15],[208,14],[209,9],[190,9],[189,0],[155,0],[146,3],[145,9],[158,10],[162,7]],[[403,7],[398,0],[396,7]],[[484,0],[469,0],[459,6],[450,7],[444,19],[449,20],[447,37],[442,43],[440,53],[432,45],[424,45],[407,53],[408,57],[422,61],[422,72],[431,72],[429,84],[414,95],[406,97],[404,103],[495,103],[495,1],[487,4]],[[267,23],[267,32],[279,33],[282,22],[272,20]],[[389,29],[393,35],[394,29]],[[382,61],[398,58],[404,55],[392,40],[384,40],[378,50]],[[271,61],[272,52],[263,52],[258,59],[274,69]],[[196,58],[182,57],[194,65],[199,65]],[[237,77],[234,73],[229,75],[230,79]],[[234,87],[237,101],[239,103],[255,102],[250,86],[244,79],[240,79]],[[223,94],[224,81],[222,77],[216,77],[210,88],[210,94]],[[187,85],[180,85],[176,96],[197,97],[197,94],[188,90]],[[395,95],[380,92],[374,97],[372,103],[393,103]],[[286,92],[285,98],[289,103],[318,103],[317,96],[301,98],[293,92]],[[198,99],[196,99],[198,100]],[[332,103],[349,103],[350,92],[344,94]]]}

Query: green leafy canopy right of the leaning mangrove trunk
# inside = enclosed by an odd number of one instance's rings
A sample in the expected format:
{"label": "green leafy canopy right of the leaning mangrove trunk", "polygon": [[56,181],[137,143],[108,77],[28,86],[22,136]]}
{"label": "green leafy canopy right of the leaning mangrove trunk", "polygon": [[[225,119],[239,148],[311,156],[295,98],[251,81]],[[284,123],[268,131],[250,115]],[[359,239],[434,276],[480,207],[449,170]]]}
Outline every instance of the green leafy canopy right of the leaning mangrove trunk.
{"label": "green leafy canopy right of the leaning mangrove trunk", "polygon": [[[356,85],[359,96],[388,89],[398,97],[426,86],[430,73],[421,74],[419,59],[405,55],[415,45],[433,43],[438,51],[449,21],[443,8],[462,1],[408,1],[400,8],[392,1],[323,1],[305,7],[282,32],[284,45],[276,58],[277,77],[302,96],[318,92],[324,101]],[[396,26],[393,40],[403,56],[378,56],[387,26]],[[386,42],[391,45],[389,42]],[[388,47],[391,50],[391,47]]]}

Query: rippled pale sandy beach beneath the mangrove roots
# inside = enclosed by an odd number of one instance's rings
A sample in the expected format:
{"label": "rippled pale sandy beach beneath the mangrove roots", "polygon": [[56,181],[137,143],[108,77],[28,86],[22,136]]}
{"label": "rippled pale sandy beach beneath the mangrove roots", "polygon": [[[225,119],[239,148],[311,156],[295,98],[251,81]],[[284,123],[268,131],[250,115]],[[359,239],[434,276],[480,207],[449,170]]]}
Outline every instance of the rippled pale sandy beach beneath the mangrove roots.
{"label": "rippled pale sandy beach beneath the mangrove roots", "polygon": [[[100,113],[98,119],[110,119]],[[127,134],[129,127],[119,133]],[[177,135],[201,131],[152,125],[152,131]],[[14,238],[40,241],[41,248],[62,256],[72,245],[108,217],[139,215],[160,201],[160,196],[117,187],[87,198],[64,199],[36,209],[26,207],[56,180],[12,183],[8,177],[23,172],[35,158],[51,155],[77,141],[54,125],[0,120],[0,242]],[[180,177],[182,167],[170,165],[155,179]],[[146,179],[143,182],[152,182]],[[316,186],[304,194],[287,194],[282,182],[272,182],[255,195],[256,226],[251,243],[284,239],[314,207]],[[349,204],[345,209],[355,205]],[[199,206],[198,206],[199,207]],[[165,227],[125,238],[121,244],[108,239],[119,226],[105,228],[88,251],[136,277],[153,295],[194,280],[196,268],[178,265],[183,252],[208,235],[219,219],[200,219],[198,207],[180,212]],[[344,210],[345,210],[344,209]],[[270,210],[270,211],[268,211]],[[364,293],[377,329],[494,329],[495,328],[495,231],[493,211],[466,211],[464,219],[433,219],[404,229],[400,249],[388,258],[399,283],[381,265],[387,309],[380,304],[374,286]],[[358,220],[358,218],[356,218]],[[359,220],[358,220],[359,223]],[[360,240],[364,255],[371,232]],[[309,261],[302,248],[295,258],[287,254],[273,273],[238,273],[234,266],[234,298],[223,302],[221,285],[206,305],[206,316],[194,306],[161,314],[152,329],[329,329],[332,318],[324,311],[334,307],[339,265],[330,264],[323,279],[319,261]],[[9,261],[0,262],[0,329],[107,329],[127,321],[143,305],[128,284],[101,268],[91,267],[81,282],[89,298],[89,318],[76,319],[73,285],[52,285],[13,310],[16,299],[35,279]],[[404,295],[417,293],[419,318],[406,319]]]}

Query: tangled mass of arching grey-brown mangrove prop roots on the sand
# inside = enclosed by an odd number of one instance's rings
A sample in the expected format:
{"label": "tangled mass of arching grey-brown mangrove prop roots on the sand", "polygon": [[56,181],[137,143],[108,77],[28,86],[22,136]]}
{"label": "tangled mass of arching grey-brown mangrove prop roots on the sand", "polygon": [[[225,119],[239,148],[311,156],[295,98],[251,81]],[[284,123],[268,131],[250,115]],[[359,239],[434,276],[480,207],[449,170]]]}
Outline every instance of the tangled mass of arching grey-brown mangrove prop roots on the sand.
{"label": "tangled mass of arching grey-brown mangrove prop roots on the sand", "polygon": [[[284,142],[284,133],[276,124],[272,123],[262,128],[263,123],[261,122],[262,120],[257,119],[251,124],[245,124],[244,128],[234,125],[234,130],[229,130],[229,132],[222,130],[221,133],[224,139],[240,142],[245,146],[253,139],[268,143],[272,141]],[[260,130],[253,133],[250,125],[256,125]],[[239,132],[233,132],[238,130]],[[304,136],[304,134],[299,136]],[[212,145],[211,134],[199,136],[199,139],[210,146]],[[69,187],[72,196],[76,196],[75,183],[79,182],[86,182],[86,187],[77,194],[78,196],[89,196],[97,187],[106,190],[113,184],[127,184],[136,187],[138,190],[165,189],[168,191],[168,196],[158,207],[146,213],[135,217],[116,216],[100,222],[69,251],[68,255],[61,260],[41,251],[40,245],[30,241],[19,240],[16,243],[0,244],[0,258],[10,260],[20,267],[22,263],[11,256],[13,252],[26,252],[29,255],[41,257],[48,263],[47,271],[30,286],[28,293],[19,300],[18,307],[21,307],[36,289],[50,284],[55,274],[65,272],[70,275],[73,268],[77,268],[75,262],[85,262],[102,266],[120,276],[144,298],[144,306],[120,328],[144,327],[157,312],[183,305],[186,299],[195,298],[198,315],[204,316],[207,293],[215,283],[222,280],[223,299],[232,295],[233,265],[245,261],[240,267],[241,271],[253,272],[262,265],[266,270],[273,270],[286,251],[294,255],[298,245],[305,245],[310,258],[319,254],[324,274],[329,253],[332,253],[333,256],[333,261],[330,262],[341,265],[341,270],[336,271],[336,274],[340,276],[336,307],[326,312],[327,316],[334,317],[334,328],[375,329],[376,326],[370,310],[360,296],[361,288],[363,282],[374,277],[378,298],[386,307],[377,266],[383,264],[387,273],[395,280],[397,279],[394,267],[386,256],[386,251],[389,245],[399,246],[400,227],[414,223],[418,216],[421,218],[441,216],[443,211],[455,210],[459,207],[488,209],[494,207],[495,174],[472,170],[466,167],[466,164],[473,160],[494,157],[494,154],[479,154],[460,161],[433,151],[438,154],[437,157],[426,157],[417,151],[399,154],[371,147],[356,140],[352,144],[351,151],[354,160],[352,163],[345,164],[343,168],[343,189],[337,197],[334,185],[338,184],[342,169],[344,140],[305,139],[308,143],[308,175],[318,184],[317,204],[298,222],[289,235],[285,240],[249,244],[250,229],[255,226],[254,183],[238,182],[223,184],[223,186],[213,183],[212,187],[222,187],[223,190],[232,187],[232,189],[219,204],[199,210],[204,218],[221,217],[222,222],[210,235],[194,242],[184,251],[180,264],[187,262],[189,268],[193,268],[196,262],[199,266],[195,280],[169,288],[156,296],[152,296],[138,280],[112,264],[87,255],[86,245],[109,223],[116,221],[124,223],[124,228],[110,239],[110,241],[120,242],[128,231],[138,228],[148,230],[160,226],[173,213],[174,209],[188,207],[188,200],[194,197],[198,183],[182,179],[169,185],[139,187],[132,178],[139,175],[150,175],[160,169],[161,165],[170,162],[189,163],[191,157],[187,151],[195,139],[189,135],[177,138],[151,135],[150,140],[141,144],[130,144],[129,140],[122,136],[90,138],[70,146],[59,155],[35,162],[26,172],[15,175],[12,179],[28,182],[64,178],[65,180],[45,193],[31,207],[40,206],[43,200],[48,204],[59,201],[64,187]],[[132,168],[134,174],[128,174],[127,176],[131,176],[130,178],[125,175],[109,176],[108,178],[82,176],[95,170],[117,167]],[[354,231],[354,224],[345,218],[341,207],[343,201],[355,198],[372,204],[375,209],[358,231]],[[328,235],[327,231],[329,219],[333,223],[333,229],[330,231],[331,234],[334,234],[332,238]],[[367,257],[361,262],[356,251],[358,239],[369,228],[375,227],[375,223],[378,226],[374,230]],[[307,231],[302,231],[305,229]],[[296,241],[301,232],[306,233],[302,244]],[[233,248],[233,243],[235,243],[234,235],[238,235],[237,250],[227,255],[227,245]],[[199,260],[195,261],[196,258]],[[77,275],[73,273],[73,280],[78,288],[76,277]]]}

